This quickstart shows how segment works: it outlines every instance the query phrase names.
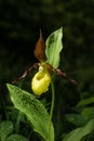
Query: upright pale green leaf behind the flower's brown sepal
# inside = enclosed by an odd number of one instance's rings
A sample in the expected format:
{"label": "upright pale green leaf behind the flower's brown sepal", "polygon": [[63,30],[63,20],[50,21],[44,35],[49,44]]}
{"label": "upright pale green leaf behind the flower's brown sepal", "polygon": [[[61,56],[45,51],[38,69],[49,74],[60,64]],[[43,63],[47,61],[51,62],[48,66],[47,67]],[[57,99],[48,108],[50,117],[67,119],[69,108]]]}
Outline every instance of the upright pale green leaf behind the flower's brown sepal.
{"label": "upright pale green leaf behind the flower's brown sepal", "polygon": [[57,68],[59,65],[59,53],[63,49],[62,38],[63,38],[63,27],[52,33],[45,41],[46,59],[48,62],[54,68]]}

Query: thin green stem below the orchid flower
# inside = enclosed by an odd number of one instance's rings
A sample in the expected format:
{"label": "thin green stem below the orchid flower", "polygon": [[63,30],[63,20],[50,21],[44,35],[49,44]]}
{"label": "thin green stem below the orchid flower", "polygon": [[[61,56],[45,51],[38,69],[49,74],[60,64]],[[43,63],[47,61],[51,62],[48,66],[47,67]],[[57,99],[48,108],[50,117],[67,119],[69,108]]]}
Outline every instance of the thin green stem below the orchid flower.
{"label": "thin green stem below the orchid flower", "polygon": [[51,104],[50,119],[52,120],[53,111],[54,111],[54,101],[55,101],[55,89],[54,89],[53,80],[52,80],[52,84],[51,84],[51,88],[52,88],[52,104]]}

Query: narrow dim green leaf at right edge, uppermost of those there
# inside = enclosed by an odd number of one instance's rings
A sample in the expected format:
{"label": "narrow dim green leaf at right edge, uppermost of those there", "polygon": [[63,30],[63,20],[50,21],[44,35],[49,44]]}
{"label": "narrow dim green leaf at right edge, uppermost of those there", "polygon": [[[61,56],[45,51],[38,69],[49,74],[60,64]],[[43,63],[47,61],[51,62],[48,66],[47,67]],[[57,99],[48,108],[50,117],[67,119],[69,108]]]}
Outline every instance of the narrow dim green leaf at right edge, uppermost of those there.
{"label": "narrow dim green leaf at right edge, uppermost of those there", "polygon": [[83,106],[83,105],[88,105],[88,104],[92,104],[92,103],[94,103],[94,97],[91,97],[91,98],[81,100],[81,101],[78,103],[77,106],[79,107],[79,106]]}

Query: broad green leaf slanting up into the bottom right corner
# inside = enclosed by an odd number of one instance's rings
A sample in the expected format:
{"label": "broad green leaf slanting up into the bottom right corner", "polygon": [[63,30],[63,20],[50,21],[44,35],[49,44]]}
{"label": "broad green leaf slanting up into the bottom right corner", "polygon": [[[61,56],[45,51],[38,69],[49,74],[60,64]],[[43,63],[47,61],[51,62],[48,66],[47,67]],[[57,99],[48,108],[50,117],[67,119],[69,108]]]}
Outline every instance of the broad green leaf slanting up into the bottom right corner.
{"label": "broad green leaf slanting up into the bottom right corner", "polygon": [[91,119],[85,126],[70,131],[63,141],[81,141],[83,137],[94,130],[94,119]]}

